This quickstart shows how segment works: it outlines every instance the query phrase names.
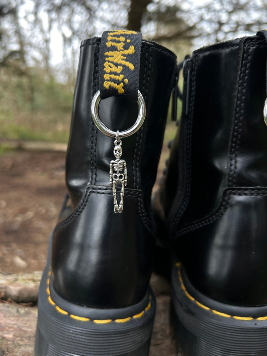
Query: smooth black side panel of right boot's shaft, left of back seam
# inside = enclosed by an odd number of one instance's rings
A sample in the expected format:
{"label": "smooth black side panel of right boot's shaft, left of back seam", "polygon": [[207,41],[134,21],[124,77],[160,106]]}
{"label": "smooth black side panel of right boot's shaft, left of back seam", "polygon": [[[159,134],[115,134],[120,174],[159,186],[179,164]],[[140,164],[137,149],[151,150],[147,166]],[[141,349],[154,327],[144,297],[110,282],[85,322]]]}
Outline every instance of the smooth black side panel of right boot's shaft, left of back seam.
{"label": "smooth black side panel of right boot's shaft, left of back seam", "polygon": [[[182,122],[188,127],[181,128],[182,135],[186,132],[181,148],[186,168],[180,169],[180,174],[190,170],[190,182],[187,177],[179,178],[190,184],[190,193],[181,201],[183,205],[188,200],[188,208],[179,219],[179,227],[213,211],[226,187],[239,55],[240,46],[234,42],[223,44],[220,49],[208,48],[192,57],[190,117],[185,116],[186,122]],[[189,142],[191,146],[187,147]]]}

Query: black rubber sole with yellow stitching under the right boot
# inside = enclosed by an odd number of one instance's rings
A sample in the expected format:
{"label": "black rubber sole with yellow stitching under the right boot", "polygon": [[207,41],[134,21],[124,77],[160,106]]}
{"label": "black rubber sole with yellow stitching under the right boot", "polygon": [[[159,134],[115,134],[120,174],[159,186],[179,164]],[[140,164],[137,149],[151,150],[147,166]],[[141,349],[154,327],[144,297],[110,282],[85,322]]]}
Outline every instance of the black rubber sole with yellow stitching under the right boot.
{"label": "black rubber sole with yellow stitching under the right boot", "polygon": [[267,356],[266,306],[235,307],[204,295],[199,301],[184,279],[176,263],[170,320],[177,356]]}

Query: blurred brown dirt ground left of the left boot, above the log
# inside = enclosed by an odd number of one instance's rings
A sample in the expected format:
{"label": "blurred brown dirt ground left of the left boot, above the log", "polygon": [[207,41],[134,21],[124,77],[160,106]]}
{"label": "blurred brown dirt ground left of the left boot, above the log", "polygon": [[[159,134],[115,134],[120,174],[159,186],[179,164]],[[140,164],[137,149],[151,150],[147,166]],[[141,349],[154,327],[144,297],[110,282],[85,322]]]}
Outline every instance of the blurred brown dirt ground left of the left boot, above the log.
{"label": "blurred brown dirt ground left of the left boot, above the log", "polygon": [[66,193],[65,153],[0,156],[0,271],[43,270]]}

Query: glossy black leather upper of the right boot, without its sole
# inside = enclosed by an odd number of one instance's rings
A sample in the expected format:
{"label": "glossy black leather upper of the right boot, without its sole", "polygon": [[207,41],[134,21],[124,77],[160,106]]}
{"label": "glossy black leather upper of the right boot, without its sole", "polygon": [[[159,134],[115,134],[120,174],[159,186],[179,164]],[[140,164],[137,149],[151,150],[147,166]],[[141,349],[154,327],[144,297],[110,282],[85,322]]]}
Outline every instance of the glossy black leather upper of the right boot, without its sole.
{"label": "glossy black leather upper of the right boot, without its sole", "polygon": [[259,37],[193,53],[190,111],[167,173],[178,188],[166,223],[190,282],[243,306],[267,304],[266,56]]}

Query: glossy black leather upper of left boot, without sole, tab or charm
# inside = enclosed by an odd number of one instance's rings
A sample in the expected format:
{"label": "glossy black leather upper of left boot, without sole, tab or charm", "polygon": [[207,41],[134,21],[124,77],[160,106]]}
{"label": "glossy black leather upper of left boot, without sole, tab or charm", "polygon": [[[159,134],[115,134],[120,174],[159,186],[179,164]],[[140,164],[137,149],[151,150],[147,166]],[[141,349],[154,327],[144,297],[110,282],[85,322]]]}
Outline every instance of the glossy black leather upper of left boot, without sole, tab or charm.
{"label": "glossy black leather upper of left boot, without sole, tab or charm", "polygon": [[[122,140],[128,184],[124,209],[113,213],[109,164],[114,139],[103,135],[91,119],[91,100],[98,90],[99,39],[81,46],[74,95],[66,182],[73,212],[56,227],[52,276],[56,292],[80,305],[118,308],[145,296],[151,273],[154,226],[150,195],[157,172],[176,57],[154,43],[142,42],[139,90],[146,119],[134,135]],[[107,98],[99,115],[112,130],[132,126],[137,104]]]}

